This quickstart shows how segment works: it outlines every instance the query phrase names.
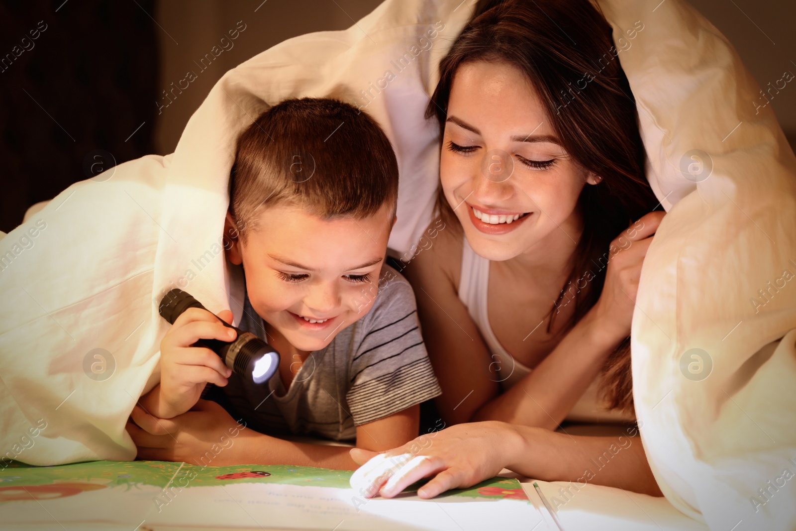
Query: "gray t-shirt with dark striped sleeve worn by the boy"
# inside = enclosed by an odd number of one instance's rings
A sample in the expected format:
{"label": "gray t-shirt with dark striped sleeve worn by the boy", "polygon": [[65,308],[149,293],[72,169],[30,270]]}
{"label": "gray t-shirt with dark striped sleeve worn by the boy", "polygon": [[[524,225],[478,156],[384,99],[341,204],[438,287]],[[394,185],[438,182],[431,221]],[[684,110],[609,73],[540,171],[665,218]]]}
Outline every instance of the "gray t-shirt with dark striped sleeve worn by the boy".
{"label": "gray t-shirt with dark striped sleeve worn by the boy", "polygon": [[[364,293],[363,303],[369,295]],[[244,298],[241,330],[265,339],[263,319]],[[279,372],[267,384],[236,373],[216,388],[236,420],[263,433],[355,439],[356,427],[442,394],[420,335],[415,295],[406,279],[384,265],[371,310],[315,350],[290,389]],[[224,400],[226,398],[227,400]]]}

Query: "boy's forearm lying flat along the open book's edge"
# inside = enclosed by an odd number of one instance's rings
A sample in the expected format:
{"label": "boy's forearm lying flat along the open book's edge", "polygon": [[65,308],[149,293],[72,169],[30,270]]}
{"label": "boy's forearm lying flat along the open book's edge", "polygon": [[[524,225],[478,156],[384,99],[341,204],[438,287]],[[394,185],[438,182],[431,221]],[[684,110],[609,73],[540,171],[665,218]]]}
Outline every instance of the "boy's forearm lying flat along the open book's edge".
{"label": "boy's forearm lying flat along the open book's edge", "polygon": [[[240,464],[296,465],[299,467],[354,470],[357,463],[349,455],[350,447],[294,443],[257,431],[247,430],[235,459]],[[243,434],[241,434],[243,435]]]}

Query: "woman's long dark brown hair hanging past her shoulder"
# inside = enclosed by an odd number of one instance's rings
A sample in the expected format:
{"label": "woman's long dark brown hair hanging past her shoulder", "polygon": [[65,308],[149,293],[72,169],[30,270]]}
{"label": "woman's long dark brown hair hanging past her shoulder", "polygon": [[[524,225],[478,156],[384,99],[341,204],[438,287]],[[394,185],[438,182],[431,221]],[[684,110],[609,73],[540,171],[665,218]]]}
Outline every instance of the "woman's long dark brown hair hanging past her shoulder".
{"label": "woman's long dark brown hair hanging past her shoulder", "polygon": [[[459,66],[474,61],[511,64],[536,89],[568,154],[603,178],[598,185],[585,185],[580,194],[583,234],[568,281],[548,314],[548,331],[564,304],[575,307],[564,330],[595,305],[603,291],[611,240],[658,203],[646,181],[635,100],[617,50],[611,25],[588,0],[480,0],[439,65],[439,84],[426,111],[443,131]],[[441,189],[439,209],[455,219]],[[633,408],[630,338],[603,365],[602,392],[609,408]]]}

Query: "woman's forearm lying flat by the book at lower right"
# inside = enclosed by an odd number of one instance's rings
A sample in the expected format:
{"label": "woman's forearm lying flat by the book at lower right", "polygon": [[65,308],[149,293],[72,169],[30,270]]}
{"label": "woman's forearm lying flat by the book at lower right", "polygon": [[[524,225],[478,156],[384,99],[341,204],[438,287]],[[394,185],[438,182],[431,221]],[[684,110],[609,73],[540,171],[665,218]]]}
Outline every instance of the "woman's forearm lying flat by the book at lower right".
{"label": "woman's forearm lying flat by the book at lower right", "polygon": [[516,425],[511,429],[519,437],[505,438],[505,467],[519,474],[542,481],[569,481],[579,487],[591,483],[663,495],[641,437],[570,436]]}

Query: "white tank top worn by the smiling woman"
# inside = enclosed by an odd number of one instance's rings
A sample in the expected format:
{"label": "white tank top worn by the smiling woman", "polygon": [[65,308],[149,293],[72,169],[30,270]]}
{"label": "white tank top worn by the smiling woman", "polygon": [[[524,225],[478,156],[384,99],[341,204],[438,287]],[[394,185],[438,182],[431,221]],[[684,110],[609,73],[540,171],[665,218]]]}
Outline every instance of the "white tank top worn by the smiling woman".
{"label": "white tank top worn by the smiling woman", "polygon": [[[486,291],[490,280],[490,261],[475,254],[467,239],[462,239],[462,273],[458,280],[458,298],[467,306],[467,313],[473,318],[475,325],[481,332],[493,358],[492,369],[495,369],[495,379],[500,382],[503,391],[511,388],[521,381],[531,369],[522,365],[509,354],[500,342],[497,341],[486,306]],[[567,420],[575,422],[632,422],[635,416],[632,412],[619,412],[603,407],[598,400],[599,376],[591,382],[583,392],[572,411],[567,415]]]}

